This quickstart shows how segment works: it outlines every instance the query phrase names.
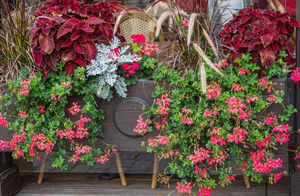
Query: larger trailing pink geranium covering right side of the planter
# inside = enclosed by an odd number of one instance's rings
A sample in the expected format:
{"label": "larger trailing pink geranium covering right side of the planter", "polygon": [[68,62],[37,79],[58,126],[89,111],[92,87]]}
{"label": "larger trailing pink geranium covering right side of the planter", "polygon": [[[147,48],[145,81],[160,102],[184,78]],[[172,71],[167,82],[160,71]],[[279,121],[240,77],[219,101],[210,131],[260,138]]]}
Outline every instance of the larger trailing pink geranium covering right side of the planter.
{"label": "larger trailing pink geranium covering right side of the planter", "polygon": [[[261,174],[268,175],[271,184],[281,178],[278,169],[282,160],[274,157],[274,151],[289,141],[289,116],[296,110],[282,104],[284,92],[274,89],[270,80],[285,75],[279,66],[286,54],[280,54],[261,77],[251,71],[259,65],[250,62],[250,54],[236,59],[239,67],[215,63],[224,67],[224,76],[205,66],[206,93],[202,92],[198,70],[186,70],[184,78],[179,77],[178,70],[167,71],[166,66],[154,73],[155,80],[168,81],[172,88],[156,87],[152,93],[155,102],[146,112],[148,118],[140,117],[134,132],[144,135],[152,126],[159,130],[142,145],[160,159],[170,159],[169,171],[182,178],[176,187],[179,195],[195,194],[192,186],[198,186],[198,196],[208,196],[216,186],[209,175],[218,175],[218,184],[224,186],[234,181],[234,169],[243,170],[256,182],[262,180]],[[266,100],[263,91],[269,92]],[[282,104],[282,114],[266,113],[273,103]],[[233,155],[237,157],[234,160]],[[188,177],[196,183],[192,185]],[[169,180],[166,173],[159,178],[164,183]]]}

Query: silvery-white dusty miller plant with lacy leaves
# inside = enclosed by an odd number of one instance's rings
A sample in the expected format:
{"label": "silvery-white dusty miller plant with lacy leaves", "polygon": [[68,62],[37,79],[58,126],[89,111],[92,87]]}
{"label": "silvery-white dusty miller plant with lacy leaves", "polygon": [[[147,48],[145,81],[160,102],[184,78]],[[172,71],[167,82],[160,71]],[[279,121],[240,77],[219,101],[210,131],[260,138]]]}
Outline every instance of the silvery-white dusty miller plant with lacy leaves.
{"label": "silvery-white dusty miller plant with lacy leaves", "polygon": [[96,95],[108,101],[112,98],[112,90],[110,90],[112,87],[115,88],[117,95],[126,97],[126,83],[124,78],[117,74],[118,66],[141,59],[135,54],[126,54],[129,46],[118,48],[120,43],[121,41],[117,37],[113,37],[109,45],[96,44],[98,53],[86,67],[87,76],[95,76],[91,78],[91,83],[95,87]]}

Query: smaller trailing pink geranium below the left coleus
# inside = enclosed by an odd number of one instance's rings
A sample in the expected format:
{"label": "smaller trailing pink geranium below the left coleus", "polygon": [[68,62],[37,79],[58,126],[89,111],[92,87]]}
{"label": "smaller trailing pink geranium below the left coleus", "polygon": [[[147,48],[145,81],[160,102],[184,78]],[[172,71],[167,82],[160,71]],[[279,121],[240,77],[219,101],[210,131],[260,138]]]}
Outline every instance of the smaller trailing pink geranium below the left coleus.
{"label": "smaller trailing pink geranium below the left coleus", "polygon": [[[101,130],[96,121],[104,115],[86,86],[85,68],[77,67],[67,76],[63,66],[58,63],[58,71],[51,70],[45,82],[41,81],[41,73],[22,70],[22,77],[8,83],[8,93],[0,96],[1,103],[5,103],[0,105],[0,125],[13,131],[13,135],[10,141],[0,140],[0,150],[10,148],[15,159],[34,161],[40,159],[40,152],[50,153],[56,146],[52,167],[61,170],[66,170],[67,162],[105,163],[116,149],[113,145],[102,151],[94,148]],[[67,98],[74,94],[83,94],[85,104],[72,103],[65,108]],[[81,139],[85,142],[80,143]],[[72,154],[69,156],[66,150]]]}

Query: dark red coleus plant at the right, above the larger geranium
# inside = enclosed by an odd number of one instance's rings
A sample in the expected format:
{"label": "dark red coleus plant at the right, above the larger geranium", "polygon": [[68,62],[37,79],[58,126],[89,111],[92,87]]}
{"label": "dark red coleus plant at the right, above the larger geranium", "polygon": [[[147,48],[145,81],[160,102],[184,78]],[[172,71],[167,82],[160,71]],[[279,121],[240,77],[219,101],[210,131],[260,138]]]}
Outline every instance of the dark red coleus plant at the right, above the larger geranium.
{"label": "dark red coleus plant at the right, above the larger geranium", "polygon": [[294,27],[300,26],[289,13],[253,9],[252,5],[233,14],[233,18],[223,26],[218,36],[222,49],[231,55],[231,63],[242,53],[249,52],[252,63],[258,63],[261,71],[271,66],[279,58],[279,51],[285,51],[284,58],[293,65],[294,45],[288,38]]}

